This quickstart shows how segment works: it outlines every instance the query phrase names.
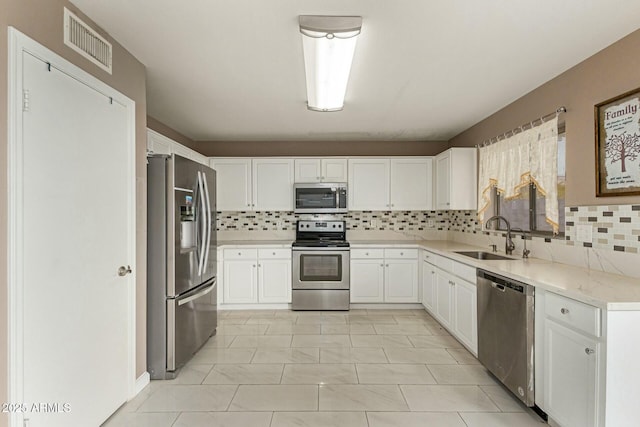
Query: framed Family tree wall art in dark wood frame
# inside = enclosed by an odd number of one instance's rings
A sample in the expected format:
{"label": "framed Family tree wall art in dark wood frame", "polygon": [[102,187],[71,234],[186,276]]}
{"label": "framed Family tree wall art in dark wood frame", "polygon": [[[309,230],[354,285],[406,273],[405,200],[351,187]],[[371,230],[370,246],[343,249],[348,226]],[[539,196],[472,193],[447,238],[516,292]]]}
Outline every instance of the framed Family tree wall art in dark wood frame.
{"label": "framed Family tree wall art in dark wood frame", "polygon": [[596,196],[640,195],[640,88],[595,106]]}

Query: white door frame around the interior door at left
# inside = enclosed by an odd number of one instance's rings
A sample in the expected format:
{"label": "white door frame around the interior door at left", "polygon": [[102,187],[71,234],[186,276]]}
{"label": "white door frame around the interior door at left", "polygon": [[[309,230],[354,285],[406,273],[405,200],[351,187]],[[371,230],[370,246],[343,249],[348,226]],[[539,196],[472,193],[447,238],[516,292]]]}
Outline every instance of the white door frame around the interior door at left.
{"label": "white door frame around the interior door at left", "polygon": [[[13,27],[8,29],[9,36],[9,70],[8,70],[8,245],[7,245],[7,291],[8,291],[8,401],[13,403],[23,402],[24,396],[24,295],[22,286],[24,255],[23,255],[23,132],[22,132],[22,55],[28,52],[31,55],[51,64],[51,67],[73,77],[78,82],[102,93],[112,102],[118,102],[127,109],[127,150],[129,161],[126,171],[129,175],[127,190],[127,231],[128,251],[133,273],[127,280],[127,372],[129,383],[127,385],[128,399],[135,396],[136,392],[136,181],[135,181],[135,102],[112,87],[88,74],[78,66],[65,60],[61,56],[32,40]],[[78,372],[78,375],[83,375]],[[24,414],[10,414],[9,425],[22,425]]]}

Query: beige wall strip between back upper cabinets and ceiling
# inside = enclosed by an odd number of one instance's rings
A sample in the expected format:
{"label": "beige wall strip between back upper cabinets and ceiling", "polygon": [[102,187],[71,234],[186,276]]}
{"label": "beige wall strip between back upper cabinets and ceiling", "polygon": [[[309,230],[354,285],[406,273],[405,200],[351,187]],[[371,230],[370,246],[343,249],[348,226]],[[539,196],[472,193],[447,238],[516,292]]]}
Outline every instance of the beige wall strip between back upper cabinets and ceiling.
{"label": "beige wall strip between back upper cabinets and ceiling", "polygon": [[431,156],[446,141],[198,141],[205,156]]}

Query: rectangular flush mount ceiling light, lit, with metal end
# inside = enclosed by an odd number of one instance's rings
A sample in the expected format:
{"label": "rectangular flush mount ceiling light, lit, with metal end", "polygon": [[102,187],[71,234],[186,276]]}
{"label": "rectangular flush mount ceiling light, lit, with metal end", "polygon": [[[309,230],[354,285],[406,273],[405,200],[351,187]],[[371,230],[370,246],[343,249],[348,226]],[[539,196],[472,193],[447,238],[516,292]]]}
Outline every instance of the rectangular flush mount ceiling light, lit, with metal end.
{"label": "rectangular flush mount ceiling light, lit, with metal end", "polygon": [[362,17],[301,15],[299,23],[307,107],[314,111],[342,110]]}

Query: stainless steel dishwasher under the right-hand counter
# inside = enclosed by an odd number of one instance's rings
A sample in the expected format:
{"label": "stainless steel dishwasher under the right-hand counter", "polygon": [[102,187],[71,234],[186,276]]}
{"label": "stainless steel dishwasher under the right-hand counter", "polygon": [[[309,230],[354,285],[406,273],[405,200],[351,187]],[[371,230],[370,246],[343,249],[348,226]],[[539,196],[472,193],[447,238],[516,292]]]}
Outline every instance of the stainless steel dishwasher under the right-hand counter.
{"label": "stainless steel dishwasher under the right-hand counter", "polygon": [[534,406],[534,287],[480,270],[478,359],[527,406]]}

